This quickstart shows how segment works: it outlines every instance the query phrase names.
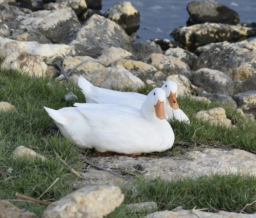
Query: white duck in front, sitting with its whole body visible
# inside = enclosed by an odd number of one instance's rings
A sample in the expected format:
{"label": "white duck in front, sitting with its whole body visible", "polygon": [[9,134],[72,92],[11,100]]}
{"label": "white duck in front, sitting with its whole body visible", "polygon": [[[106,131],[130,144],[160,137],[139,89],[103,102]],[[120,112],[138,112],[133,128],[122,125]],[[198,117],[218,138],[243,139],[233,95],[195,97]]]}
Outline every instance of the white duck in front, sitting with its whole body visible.
{"label": "white duck in front, sitting with its whole body visible", "polygon": [[153,89],[141,109],[90,104],[59,110],[44,107],[65,137],[97,153],[140,155],[172,147],[174,132],[165,119],[163,89]]}

